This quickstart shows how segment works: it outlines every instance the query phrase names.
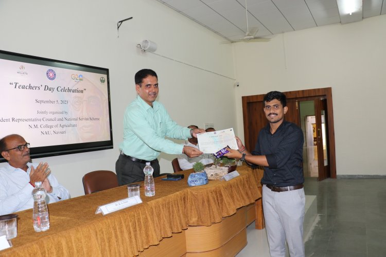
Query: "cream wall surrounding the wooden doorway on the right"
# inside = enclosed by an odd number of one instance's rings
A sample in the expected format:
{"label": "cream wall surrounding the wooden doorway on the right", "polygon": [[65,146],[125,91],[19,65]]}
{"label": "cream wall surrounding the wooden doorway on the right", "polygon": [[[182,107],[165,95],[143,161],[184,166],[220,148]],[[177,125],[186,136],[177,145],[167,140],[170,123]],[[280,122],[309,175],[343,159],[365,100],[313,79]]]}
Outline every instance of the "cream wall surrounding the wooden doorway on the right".
{"label": "cream wall surrounding the wooden doorway on the right", "polygon": [[237,127],[241,96],[332,87],[338,175],[386,175],[386,15],[234,44]]}

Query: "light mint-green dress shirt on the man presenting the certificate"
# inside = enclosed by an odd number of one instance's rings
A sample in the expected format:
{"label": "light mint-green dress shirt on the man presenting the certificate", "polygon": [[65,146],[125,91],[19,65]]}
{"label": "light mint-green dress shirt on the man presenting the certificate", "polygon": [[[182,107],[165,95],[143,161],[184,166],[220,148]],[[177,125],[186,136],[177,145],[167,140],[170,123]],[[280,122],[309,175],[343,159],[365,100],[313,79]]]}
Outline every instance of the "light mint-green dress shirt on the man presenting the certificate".
{"label": "light mint-green dress shirt on the man presenting the certificate", "polygon": [[156,159],[161,152],[181,154],[184,145],[165,136],[187,139],[191,137],[190,128],[177,125],[161,103],[154,101],[151,107],[137,95],[126,108],[124,141],[119,149],[126,155],[148,161]]}

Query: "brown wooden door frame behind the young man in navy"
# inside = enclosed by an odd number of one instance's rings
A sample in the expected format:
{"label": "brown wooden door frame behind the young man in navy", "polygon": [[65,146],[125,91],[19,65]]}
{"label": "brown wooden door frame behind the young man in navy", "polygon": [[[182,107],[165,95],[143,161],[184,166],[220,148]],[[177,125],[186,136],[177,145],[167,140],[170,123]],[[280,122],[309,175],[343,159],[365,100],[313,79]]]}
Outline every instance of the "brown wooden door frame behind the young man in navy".
{"label": "brown wooden door frame behind the young man in navy", "polygon": [[[334,130],[334,111],[332,108],[332,89],[331,87],[325,88],[315,88],[315,89],[305,89],[305,90],[296,90],[296,91],[286,91],[283,92],[287,99],[293,100],[304,100],[304,98],[309,97],[323,97],[327,101],[327,124],[328,124],[328,157],[330,161],[330,177],[337,178],[337,166],[335,159],[335,130]],[[243,115],[243,124],[244,124],[244,142],[247,149],[251,151],[254,146],[249,145],[250,138],[249,134],[245,133],[248,131],[249,121],[252,120],[249,118],[248,114],[248,103],[251,102],[260,102],[263,101],[264,95],[254,95],[254,96],[243,96],[242,99],[242,115]],[[262,110],[261,110],[262,112]],[[256,140],[256,139],[253,139]]]}

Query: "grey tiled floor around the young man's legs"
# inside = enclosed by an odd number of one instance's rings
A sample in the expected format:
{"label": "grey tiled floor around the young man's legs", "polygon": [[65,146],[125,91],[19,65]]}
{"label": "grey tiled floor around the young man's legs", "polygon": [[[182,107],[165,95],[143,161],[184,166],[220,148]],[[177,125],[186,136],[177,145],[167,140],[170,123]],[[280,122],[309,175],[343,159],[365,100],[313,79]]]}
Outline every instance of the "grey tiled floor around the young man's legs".
{"label": "grey tiled floor around the young man's legs", "polygon": [[[306,195],[317,195],[318,222],[305,242],[309,257],[386,256],[386,179],[306,178]],[[237,257],[269,256],[265,230],[247,230]]]}

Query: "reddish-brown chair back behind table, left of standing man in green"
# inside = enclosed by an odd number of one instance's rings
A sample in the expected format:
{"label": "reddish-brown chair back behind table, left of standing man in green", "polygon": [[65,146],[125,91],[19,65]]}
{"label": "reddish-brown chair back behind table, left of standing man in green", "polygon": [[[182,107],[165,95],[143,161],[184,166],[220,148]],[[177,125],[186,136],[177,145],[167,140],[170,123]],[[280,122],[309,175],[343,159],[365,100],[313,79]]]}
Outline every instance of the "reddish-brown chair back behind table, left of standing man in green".
{"label": "reddish-brown chair back behind table, left of standing man in green", "polygon": [[84,194],[118,187],[117,175],[112,171],[92,171],[83,176]]}

